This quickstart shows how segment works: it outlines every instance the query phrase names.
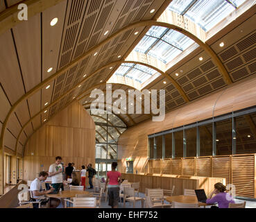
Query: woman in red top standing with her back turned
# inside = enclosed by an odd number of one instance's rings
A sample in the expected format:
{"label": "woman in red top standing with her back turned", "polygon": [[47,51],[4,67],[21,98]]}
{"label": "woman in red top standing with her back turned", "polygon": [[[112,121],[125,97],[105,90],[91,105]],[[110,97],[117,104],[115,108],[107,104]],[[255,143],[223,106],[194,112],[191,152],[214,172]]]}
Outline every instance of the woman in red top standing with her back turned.
{"label": "woman in red top standing with her back turned", "polygon": [[108,205],[112,208],[118,207],[119,185],[121,183],[121,173],[116,169],[117,162],[112,162],[112,170],[107,173],[107,180],[105,180],[105,187],[108,185]]}

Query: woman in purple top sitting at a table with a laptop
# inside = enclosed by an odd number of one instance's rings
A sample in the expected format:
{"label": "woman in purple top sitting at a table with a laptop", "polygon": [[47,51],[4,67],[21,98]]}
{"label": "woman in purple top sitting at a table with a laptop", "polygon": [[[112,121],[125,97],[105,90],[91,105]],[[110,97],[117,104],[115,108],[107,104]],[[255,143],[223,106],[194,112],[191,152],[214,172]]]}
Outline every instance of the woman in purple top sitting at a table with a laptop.
{"label": "woman in purple top sitting at a table with a laptop", "polygon": [[[221,182],[217,182],[214,185],[214,191],[212,191],[209,198],[206,200],[206,203],[218,203],[219,208],[228,208],[229,203],[234,203],[234,199],[225,191],[225,186]],[[214,197],[212,197],[213,194],[215,194]]]}

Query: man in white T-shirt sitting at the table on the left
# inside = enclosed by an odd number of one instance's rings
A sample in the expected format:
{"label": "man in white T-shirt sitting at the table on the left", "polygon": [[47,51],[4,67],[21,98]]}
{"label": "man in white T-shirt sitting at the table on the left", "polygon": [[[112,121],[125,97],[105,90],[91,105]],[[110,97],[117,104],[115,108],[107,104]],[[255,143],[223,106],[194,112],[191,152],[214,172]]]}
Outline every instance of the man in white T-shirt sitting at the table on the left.
{"label": "man in white T-shirt sitting at the table on the left", "polygon": [[[35,180],[31,182],[31,191],[33,192],[33,198],[40,198],[46,194],[50,194],[54,190],[54,188],[51,187],[49,190],[42,191],[42,182],[44,182],[47,177],[48,177],[48,173],[45,171],[41,171],[39,173],[39,177],[35,178]],[[34,201],[39,201],[39,199],[35,199]],[[47,202],[48,200],[45,200],[45,201],[42,201],[41,204],[44,205]],[[51,203],[50,207],[56,208],[60,204],[60,200],[56,198],[51,198],[50,203]],[[35,204],[34,207],[38,207],[37,204]]]}

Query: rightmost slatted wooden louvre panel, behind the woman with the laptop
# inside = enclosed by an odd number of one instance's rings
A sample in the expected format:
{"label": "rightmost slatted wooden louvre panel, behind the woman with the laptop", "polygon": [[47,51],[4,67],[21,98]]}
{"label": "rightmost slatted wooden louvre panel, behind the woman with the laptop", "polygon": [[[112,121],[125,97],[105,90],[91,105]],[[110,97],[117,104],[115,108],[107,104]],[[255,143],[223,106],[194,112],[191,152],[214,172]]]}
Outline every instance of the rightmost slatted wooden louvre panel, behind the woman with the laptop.
{"label": "rightmost slatted wooden louvre panel, behind the woman with the laptop", "polygon": [[232,185],[236,196],[255,198],[255,155],[232,157]]}

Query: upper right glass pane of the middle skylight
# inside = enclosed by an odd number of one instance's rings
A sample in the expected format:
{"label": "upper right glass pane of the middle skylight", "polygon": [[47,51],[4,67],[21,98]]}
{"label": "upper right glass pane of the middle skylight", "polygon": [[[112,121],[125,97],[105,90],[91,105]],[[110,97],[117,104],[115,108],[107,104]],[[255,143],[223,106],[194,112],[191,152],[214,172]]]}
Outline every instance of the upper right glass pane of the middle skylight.
{"label": "upper right glass pane of the middle skylight", "polygon": [[191,44],[194,43],[194,40],[191,40],[186,35],[179,33],[178,31],[170,30],[166,35],[162,37],[162,40],[176,46],[178,49],[184,51],[187,49]]}

